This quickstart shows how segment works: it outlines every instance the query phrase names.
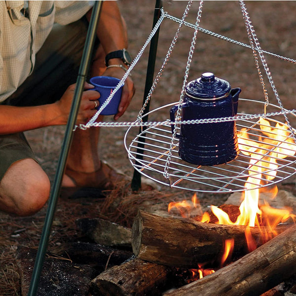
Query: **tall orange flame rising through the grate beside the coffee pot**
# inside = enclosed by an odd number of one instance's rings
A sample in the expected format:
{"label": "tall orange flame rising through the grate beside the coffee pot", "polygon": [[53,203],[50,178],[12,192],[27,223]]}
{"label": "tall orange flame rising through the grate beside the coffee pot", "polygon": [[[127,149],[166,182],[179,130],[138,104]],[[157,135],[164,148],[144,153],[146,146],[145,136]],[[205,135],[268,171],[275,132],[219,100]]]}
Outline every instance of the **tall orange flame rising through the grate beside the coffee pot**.
{"label": "tall orange flame rising through the grate beside the coffee pot", "polygon": [[[212,212],[219,220],[219,224],[236,224],[247,226],[260,226],[260,221],[265,221],[265,225],[270,227],[270,232],[277,235],[272,229],[279,223],[293,219],[295,215],[291,214],[291,210],[278,210],[271,208],[268,204],[259,206],[259,185],[261,182],[271,181],[276,177],[276,169],[278,168],[277,158],[286,158],[296,153],[296,144],[289,137],[290,131],[288,126],[276,123],[275,128],[270,125],[267,119],[260,118],[259,143],[250,139],[246,128],[238,131],[238,143],[240,151],[250,156],[250,164],[248,167],[249,177],[245,183],[245,197],[241,203],[239,210],[240,215],[236,222],[231,222],[227,213],[217,207],[212,206]],[[271,237],[266,237],[269,240]],[[246,230],[246,239],[249,250],[256,248],[256,243],[252,241],[250,229]]]}

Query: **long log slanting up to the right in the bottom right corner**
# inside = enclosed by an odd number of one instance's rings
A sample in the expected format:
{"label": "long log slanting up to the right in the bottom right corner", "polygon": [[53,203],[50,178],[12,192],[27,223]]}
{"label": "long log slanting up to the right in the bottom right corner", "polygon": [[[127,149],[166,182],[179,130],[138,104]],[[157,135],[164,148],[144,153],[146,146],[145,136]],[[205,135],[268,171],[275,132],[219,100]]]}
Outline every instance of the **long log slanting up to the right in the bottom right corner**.
{"label": "long log slanting up to the right in the bottom right corner", "polygon": [[296,225],[255,251],[163,296],[259,296],[296,274]]}

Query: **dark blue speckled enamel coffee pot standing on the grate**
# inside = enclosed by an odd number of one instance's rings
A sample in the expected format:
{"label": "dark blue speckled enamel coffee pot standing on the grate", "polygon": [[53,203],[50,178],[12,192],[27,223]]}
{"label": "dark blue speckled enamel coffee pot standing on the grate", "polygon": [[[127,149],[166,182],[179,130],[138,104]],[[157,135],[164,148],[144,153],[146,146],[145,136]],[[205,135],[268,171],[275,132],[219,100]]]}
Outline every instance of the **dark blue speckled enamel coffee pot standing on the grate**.
{"label": "dark blue speckled enamel coffee pot standing on the grate", "polygon": [[[213,73],[204,73],[185,87],[182,120],[235,116],[240,92],[240,88],[231,89],[227,81]],[[178,105],[171,108],[171,121],[175,121],[177,110]],[[238,154],[235,121],[181,124],[176,137],[179,138],[179,156],[192,164],[223,164]]]}

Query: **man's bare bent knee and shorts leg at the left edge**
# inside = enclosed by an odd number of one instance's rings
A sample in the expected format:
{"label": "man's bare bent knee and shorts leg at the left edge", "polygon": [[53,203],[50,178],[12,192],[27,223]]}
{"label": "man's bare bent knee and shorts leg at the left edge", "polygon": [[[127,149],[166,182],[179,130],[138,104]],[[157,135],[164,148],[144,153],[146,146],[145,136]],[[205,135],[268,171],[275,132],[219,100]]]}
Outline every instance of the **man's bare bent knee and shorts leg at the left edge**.
{"label": "man's bare bent knee and shorts leg at the left edge", "polygon": [[0,136],[0,210],[19,216],[37,212],[50,182],[22,133]]}

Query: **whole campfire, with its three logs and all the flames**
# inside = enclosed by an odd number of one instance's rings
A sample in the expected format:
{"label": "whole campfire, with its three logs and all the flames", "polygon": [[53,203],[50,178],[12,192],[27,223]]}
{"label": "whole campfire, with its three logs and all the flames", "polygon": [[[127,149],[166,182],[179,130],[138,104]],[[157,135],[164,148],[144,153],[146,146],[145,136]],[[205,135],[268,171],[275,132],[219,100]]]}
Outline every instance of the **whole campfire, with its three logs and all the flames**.
{"label": "whole campfire, with its three logs and all the flames", "polygon": [[254,125],[260,129],[238,131],[240,153],[251,160],[241,204],[203,211],[194,193],[168,203],[170,217],[140,209],[131,231],[134,257],[97,276],[94,293],[260,296],[296,273],[296,215],[259,198],[262,191],[277,195],[264,183],[296,146],[286,124],[260,118]]}

